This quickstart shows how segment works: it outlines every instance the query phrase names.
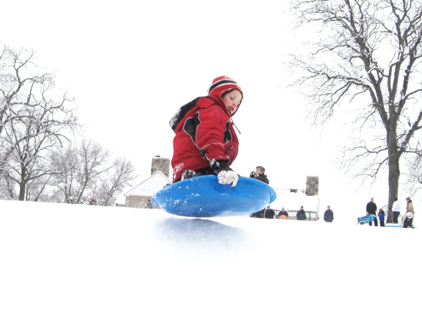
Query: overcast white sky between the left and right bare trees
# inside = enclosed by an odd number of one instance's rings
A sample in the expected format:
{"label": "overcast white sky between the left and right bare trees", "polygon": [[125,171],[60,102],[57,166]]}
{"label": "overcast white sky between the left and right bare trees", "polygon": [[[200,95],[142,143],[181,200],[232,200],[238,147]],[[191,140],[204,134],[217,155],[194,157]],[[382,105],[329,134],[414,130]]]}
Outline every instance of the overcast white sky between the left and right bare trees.
{"label": "overcast white sky between the left and right bare trees", "polygon": [[319,176],[324,209],[361,213],[371,196],[387,202],[387,178],[355,194],[360,184],[337,177],[343,119],[309,129],[304,102],[285,88],[282,62],[305,36],[290,29],[288,1],[25,0],[2,11],[1,42],[38,51],[57,86],[76,97],[87,136],[130,158],[141,179],[154,155],[173,154],[173,113],[227,75],[244,92],[233,118],[241,131],[236,172],[264,166],[275,188],[304,188],[307,175]]}

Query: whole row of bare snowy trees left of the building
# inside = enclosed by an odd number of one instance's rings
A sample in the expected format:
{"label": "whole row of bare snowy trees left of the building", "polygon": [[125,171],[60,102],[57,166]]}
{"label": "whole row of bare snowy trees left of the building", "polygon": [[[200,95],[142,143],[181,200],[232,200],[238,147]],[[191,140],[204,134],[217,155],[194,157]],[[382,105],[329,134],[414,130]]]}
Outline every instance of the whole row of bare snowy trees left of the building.
{"label": "whole row of bare snowy trees left of the building", "polygon": [[133,164],[80,137],[74,99],[36,59],[0,48],[0,199],[113,205]]}

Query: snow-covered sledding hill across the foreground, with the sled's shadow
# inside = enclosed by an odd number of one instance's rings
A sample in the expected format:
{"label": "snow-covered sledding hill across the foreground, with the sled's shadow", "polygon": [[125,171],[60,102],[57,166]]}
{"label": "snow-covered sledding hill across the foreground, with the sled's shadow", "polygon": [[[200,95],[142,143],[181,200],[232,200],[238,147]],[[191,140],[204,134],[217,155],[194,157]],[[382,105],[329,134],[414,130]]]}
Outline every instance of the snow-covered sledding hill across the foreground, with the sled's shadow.
{"label": "snow-covered sledding hill across the foreground, with the sled's shadow", "polygon": [[0,315],[421,315],[420,232],[0,201]]}

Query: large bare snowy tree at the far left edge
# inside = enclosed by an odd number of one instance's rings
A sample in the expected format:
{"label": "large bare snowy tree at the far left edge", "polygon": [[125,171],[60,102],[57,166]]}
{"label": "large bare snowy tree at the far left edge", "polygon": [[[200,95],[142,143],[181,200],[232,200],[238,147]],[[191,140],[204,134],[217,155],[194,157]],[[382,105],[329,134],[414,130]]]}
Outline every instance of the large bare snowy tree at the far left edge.
{"label": "large bare snowy tree at the far left edge", "polygon": [[2,56],[0,176],[19,184],[23,201],[28,182],[56,173],[46,157],[67,140],[77,119],[73,99],[57,94],[53,75],[35,64],[33,51],[5,46]]}

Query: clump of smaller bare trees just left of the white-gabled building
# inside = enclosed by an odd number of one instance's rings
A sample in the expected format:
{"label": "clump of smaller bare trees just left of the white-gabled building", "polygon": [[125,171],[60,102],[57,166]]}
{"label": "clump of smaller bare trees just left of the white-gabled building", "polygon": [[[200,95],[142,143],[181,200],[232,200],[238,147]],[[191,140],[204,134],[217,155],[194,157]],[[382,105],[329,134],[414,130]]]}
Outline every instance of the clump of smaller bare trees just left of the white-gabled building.
{"label": "clump of smaller bare trees just left of the white-gabled building", "polygon": [[[54,169],[54,199],[69,204],[92,203],[109,206],[125,185],[138,177],[133,163],[126,158],[111,157],[111,152],[92,139],[81,144],[69,144],[56,151]],[[63,198],[64,197],[64,198]]]}

